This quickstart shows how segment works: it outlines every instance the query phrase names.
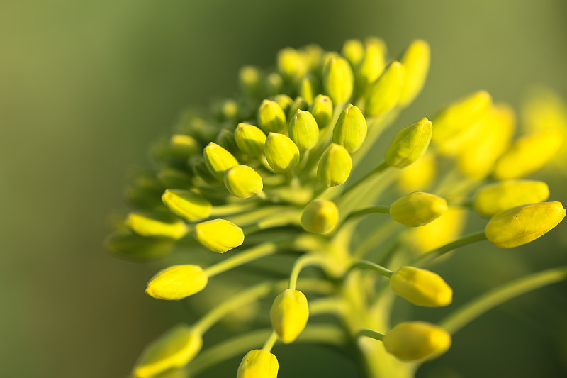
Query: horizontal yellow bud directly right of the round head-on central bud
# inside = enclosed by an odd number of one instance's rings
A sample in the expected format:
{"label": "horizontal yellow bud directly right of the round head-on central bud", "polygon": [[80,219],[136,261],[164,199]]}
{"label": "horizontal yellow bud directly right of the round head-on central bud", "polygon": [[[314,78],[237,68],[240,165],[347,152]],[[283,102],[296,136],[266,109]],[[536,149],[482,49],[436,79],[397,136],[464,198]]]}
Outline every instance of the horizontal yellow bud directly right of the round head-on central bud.
{"label": "horizontal yellow bud directly right of the round head-on central bud", "polygon": [[447,201],[422,191],[406,194],[390,206],[390,216],[405,226],[419,227],[439,218],[447,211]]}

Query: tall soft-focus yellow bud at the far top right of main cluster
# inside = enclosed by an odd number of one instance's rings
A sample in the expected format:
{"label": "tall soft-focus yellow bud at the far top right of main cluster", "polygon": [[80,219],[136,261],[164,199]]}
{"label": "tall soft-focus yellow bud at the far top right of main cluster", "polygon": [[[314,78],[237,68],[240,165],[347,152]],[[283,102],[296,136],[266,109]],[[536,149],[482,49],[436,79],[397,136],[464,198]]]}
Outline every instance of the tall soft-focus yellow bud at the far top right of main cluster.
{"label": "tall soft-focus yellow bud at the far top right of main cluster", "polygon": [[430,70],[430,45],[425,40],[414,40],[403,53],[400,62],[405,75],[400,91],[400,106],[406,106],[420,94]]}

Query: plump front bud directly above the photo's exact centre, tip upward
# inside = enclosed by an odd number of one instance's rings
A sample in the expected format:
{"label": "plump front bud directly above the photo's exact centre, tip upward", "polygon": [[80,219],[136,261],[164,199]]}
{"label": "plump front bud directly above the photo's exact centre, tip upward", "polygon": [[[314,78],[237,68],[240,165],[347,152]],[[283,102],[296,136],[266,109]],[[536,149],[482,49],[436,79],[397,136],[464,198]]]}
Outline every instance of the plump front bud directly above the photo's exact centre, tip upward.
{"label": "plump front bud directly above the photo's exact centre, tip upward", "polygon": [[299,149],[286,135],[269,133],[264,144],[264,153],[271,169],[283,173],[298,165]]}

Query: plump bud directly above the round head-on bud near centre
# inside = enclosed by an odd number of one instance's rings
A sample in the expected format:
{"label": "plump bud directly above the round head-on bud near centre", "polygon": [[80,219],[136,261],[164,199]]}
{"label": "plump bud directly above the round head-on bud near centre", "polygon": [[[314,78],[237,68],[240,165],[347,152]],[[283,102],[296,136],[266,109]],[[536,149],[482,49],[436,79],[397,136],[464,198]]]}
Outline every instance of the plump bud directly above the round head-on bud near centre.
{"label": "plump bud directly above the round head-on bud near centre", "polygon": [[332,188],[349,178],[352,169],[352,157],[342,145],[331,143],[323,152],[317,167],[317,177],[325,187]]}

